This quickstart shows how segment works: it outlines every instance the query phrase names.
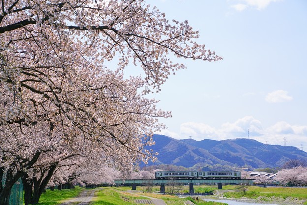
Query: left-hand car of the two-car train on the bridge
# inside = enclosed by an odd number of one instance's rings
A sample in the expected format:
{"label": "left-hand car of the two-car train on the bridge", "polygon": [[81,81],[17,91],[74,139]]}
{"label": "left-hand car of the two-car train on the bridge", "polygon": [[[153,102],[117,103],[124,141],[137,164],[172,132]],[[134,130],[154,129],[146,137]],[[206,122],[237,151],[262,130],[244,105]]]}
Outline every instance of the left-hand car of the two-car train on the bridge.
{"label": "left-hand car of the two-car train on the bridge", "polygon": [[156,179],[195,179],[198,178],[197,171],[157,171],[155,172]]}

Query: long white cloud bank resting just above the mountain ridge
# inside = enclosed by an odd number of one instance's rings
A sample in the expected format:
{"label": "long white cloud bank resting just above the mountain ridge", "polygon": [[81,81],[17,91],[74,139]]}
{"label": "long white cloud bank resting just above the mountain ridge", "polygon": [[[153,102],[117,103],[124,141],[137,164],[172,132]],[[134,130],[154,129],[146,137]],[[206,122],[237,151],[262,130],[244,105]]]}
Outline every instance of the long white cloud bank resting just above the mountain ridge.
{"label": "long white cloud bank resting just above the mountain ridge", "polygon": [[304,151],[307,150],[307,125],[291,125],[287,122],[277,122],[267,128],[252,116],[245,116],[235,122],[226,122],[220,128],[215,128],[205,123],[185,122],[180,125],[180,133],[163,131],[166,136],[175,139],[192,139],[200,141],[203,139],[226,140],[236,138],[247,138],[248,130],[250,139],[257,140],[264,144],[284,145],[286,138],[287,146],[296,146],[299,149],[303,144]]}

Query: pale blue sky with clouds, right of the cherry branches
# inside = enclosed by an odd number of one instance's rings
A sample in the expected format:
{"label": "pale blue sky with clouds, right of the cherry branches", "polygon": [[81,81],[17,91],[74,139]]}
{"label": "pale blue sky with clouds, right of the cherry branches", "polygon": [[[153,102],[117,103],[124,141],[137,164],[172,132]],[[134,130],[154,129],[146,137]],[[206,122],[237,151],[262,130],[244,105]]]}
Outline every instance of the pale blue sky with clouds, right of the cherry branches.
{"label": "pale blue sky with clouds, right of the cherry branches", "polygon": [[307,151],[306,0],[147,0],[189,24],[219,62],[183,62],[153,97],[172,111],[161,134],[248,137]]}

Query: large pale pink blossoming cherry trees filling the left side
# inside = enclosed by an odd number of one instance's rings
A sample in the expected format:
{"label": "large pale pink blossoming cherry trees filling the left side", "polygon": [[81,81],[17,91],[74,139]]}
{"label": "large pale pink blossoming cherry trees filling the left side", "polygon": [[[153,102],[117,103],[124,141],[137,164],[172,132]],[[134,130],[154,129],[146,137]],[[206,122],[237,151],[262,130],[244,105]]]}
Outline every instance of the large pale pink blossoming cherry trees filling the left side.
{"label": "large pale pink blossoming cherry trees filling the left side", "polygon": [[[2,0],[0,10],[0,205],[19,178],[25,205],[37,204],[47,185],[155,160],[145,147],[171,114],[146,94],[185,68],[170,55],[221,59],[145,0]],[[144,77],[124,77],[127,66]]]}

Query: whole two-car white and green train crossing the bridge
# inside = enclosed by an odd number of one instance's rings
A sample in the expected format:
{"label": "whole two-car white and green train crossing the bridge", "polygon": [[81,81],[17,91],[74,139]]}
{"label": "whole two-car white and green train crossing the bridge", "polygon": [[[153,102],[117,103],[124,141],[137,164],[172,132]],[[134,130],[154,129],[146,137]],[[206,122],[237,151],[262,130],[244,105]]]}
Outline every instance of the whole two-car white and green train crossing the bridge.
{"label": "whole two-car white and green train crossing the bridge", "polygon": [[156,179],[241,179],[240,171],[157,171]]}

